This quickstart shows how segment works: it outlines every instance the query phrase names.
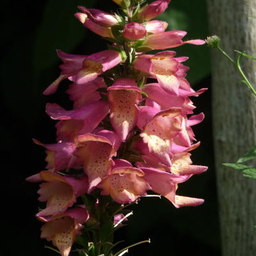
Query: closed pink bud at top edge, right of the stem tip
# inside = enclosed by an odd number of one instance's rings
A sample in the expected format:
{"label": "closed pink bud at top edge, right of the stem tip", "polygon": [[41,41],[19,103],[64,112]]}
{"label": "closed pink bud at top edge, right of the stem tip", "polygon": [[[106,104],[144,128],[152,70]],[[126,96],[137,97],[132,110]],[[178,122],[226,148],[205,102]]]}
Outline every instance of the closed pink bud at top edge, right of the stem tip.
{"label": "closed pink bud at top edge, right of the stem tip", "polygon": [[152,20],[163,13],[171,0],[158,0],[153,3],[147,4],[141,8],[138,13],[138,18],[140,20]]}

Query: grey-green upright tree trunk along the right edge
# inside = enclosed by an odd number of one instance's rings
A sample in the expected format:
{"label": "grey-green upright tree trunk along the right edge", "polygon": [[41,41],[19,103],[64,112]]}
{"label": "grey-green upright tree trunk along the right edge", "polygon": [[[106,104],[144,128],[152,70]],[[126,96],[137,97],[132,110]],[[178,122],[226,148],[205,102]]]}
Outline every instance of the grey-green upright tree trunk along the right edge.
{"label": "grey-green upright tree trunk along the right edge", "polygon": [[[256,1],[208,0],[211,35],[221,38],[221,48],[256,55]],[[256,86],[256,61],[243,57],[244,72]],[[256,97],[241,83],[236,68],[212,50],[212,117],[220,205],[223,256],[256,253],[256,180],[243,177],[222,163],[235,163],[256,145]],[[256,162],[250,162],[256,166]]]}

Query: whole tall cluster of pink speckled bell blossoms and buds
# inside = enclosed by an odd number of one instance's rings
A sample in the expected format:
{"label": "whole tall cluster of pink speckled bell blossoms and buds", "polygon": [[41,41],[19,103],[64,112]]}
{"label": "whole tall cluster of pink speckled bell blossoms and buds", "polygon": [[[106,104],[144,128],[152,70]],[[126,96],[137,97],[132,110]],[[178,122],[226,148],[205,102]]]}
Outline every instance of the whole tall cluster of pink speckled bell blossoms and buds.
{"label": "whole tall cluster of pink speckled bell blossoms and buds", "polygon": [[[124,1],[114,1],[124,6]],[[47,114],[58,120],[57,143],[35,140],[46,148],[47,170],[28,180],[42,182],[39,200],[47,205],[36,214],[45,222],[41,237],[52,240],[62,256],[69,254],[82,224],[91,218],[86,205],[75,205],[81,195],[100,191],[98,200],[110,195],[113,201],[127,204],[154,191],[175,207],[204,202],[176,191],[179,183],[207,170],[193,165],[189,154],[199,145],[191,127],[204,118],[203,113],[193,115],[195,106],[189,97],[206,89],[195,92],[189,86],[185,78],[189,68],[182,64],[187,57],[175,57],[174,51],[145,54],[204,44],[203,40],[183,42],[185,31],[165,31],[166,22],[151,20],[169,2],[127,6],[126,17],[79,6],[77,19],[112,42],[110,49],[88,56],[57,51],[63,61],[61,74],[44,94],[56,92],[68,79],[72,84],[67,93],[74,107],[47,104]]]}

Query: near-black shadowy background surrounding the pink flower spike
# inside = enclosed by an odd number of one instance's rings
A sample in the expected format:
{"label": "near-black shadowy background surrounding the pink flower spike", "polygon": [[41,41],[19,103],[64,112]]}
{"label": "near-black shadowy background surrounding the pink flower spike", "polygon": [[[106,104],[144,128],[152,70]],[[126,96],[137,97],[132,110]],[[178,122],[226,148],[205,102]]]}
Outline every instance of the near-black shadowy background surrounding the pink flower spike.
{"label": "near-black shadowy background surrounding the pink flower spike", "polygon": [[[1,156],[3,196],[2,226],[4,243],[1,255],[47,256],[56,253],[45,249],[40,239],[42,224],[35,219],[38,211],[38,184],[26,177],[44,170],[42,147],[32,143],[36,138],[54,143],[55,122],[45,114],[45,103],[56,102],[71,108],[62,82],[55,95],[42,92],[60,72],[56,49],[73,54],[92,54],[106,49],[99,36],[83,28],[74,17],[77,5],[116,10],[111,0],[5,1],[1,10]],[[187,40],[205,38],[207,14],[204,0],[172,0],[158,19],[170,22],[169,30],[188,31]],[[195,90],[208,87],[200,97],[193,97],[195,113],[204,112],[205,120],[196,125],[196,138],[202,141],[194,150],[193,163],[207,165],[209,170],[180,184],[179,195],[205,199],[198,207],[175,209],[162,198],[143,198],[132,206],[134,214],[127,227],[116,233],[116,241],[136,243],[150,237],[151,244],[131,249],[129,255],[220,255],[220,230],[214,174],[211,130],[211,77],[209,49],[205,45],[184,45],[175,49],[178,56],[189,56],[188,80]]]}

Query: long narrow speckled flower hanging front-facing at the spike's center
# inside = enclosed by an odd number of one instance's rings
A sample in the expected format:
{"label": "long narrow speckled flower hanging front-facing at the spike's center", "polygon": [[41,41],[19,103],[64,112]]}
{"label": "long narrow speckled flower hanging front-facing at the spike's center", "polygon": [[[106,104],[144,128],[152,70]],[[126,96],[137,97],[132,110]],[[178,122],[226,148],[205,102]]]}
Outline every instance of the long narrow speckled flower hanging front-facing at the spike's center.
{"label": "long narrow speckled flower hanging front-facing at the spike's center", "polygon": [[140,89],[132,79],[118,79],[108,88],[111,102],[110,120],[122,141],[125,141],[138,118],[138,102],[141,99]]}

